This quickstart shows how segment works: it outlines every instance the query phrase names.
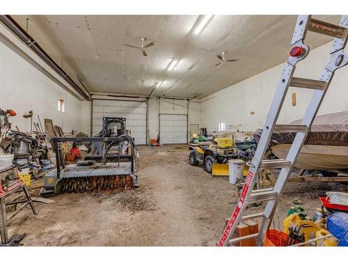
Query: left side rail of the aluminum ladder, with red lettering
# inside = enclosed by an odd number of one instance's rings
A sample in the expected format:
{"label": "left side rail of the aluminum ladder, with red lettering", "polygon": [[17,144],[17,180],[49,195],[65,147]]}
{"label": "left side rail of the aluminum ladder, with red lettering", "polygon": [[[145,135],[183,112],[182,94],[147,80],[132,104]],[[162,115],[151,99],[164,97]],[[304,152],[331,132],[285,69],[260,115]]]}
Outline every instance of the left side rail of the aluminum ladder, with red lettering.
{"label": "left side rail of the aluminum ladder, with red lettering", "polygon": [[225,230],[223,231],[223,235],[218,246],[228,245],[230,238],[232,237],[232,233],[235,231],[237,224],[242,219],[243,212],[246,208],[246,204],[244,203],[244,201],[247,201],[247,199],[251,195],[251,191],[253,190],[257,173],[260,169],[262,159],[264,157],[264,153],[266,152],[269,140],[271,139],[271,134],[273,132],[274,125],[276,125],[276,121],[278,120],[281,107],[287,94],[287,89],[290,86],[290,81],[292,79],[292,75],[294,74],[295,65],[298,61],[301,61],[303,58],[305,58],[309,52],[309,48],[303,44],[303,38],[306,36],[309,19],[309,15],[299,15],[297,19],[296,27],[294,29],[294,36],[292,38],[292,46],[295,44],[297,46],[301,46],[305,50],[305,54],[298,58],[290,56],[290,58],[287,60],[287,63],[285,63],[285,68],[280,77],[278,88],[276,89],[276,94],[274,95],[274,100],[271,104],[271,108],[269,109],[269,114],[267,116],[267,120],[264,125],[262,135],[260,137],[258,148],[256,149],[255,156],[251,161],[252,167],[249,168],[249,172],[246,176],[246,181],[244,182],[244,187],[242,189],[241,196],[239,197],[237,205],[234,211],[232,212],[230,221],[228,222]]}

